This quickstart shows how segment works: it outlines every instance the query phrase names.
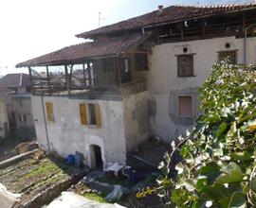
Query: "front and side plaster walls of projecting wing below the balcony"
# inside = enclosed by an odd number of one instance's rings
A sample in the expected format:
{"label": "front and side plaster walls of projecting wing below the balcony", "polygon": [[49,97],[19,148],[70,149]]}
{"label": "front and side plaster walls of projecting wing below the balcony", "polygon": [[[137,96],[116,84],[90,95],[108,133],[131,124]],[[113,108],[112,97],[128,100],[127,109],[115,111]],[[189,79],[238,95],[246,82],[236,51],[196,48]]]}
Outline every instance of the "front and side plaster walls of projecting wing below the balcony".
{"label": "front and side plaster walls of projecting wing below the balcony", "polygon": [[[50,150],[63,157],[79,151],[83,154],[84,164],[93,166],[93,152],[90,147],[98,146],[101,147],[103,165],[114,162],[126,164],[127,150],[136,147],[150,134],[147,96],[148,92],[143,92],[127,96],[123,101],[112,101],[60,96],[44,96],[42,100],[41,96],[33,95],[32,109],[39,145],[48,151],[47,130]],[[46,120],[45,123],[42,102],[45,113],[46,102],[52,103],[53,122]],[[80,103],[100,106],[101,127],[81,124]],[[131,105],[134,108],[128,108]]]}

